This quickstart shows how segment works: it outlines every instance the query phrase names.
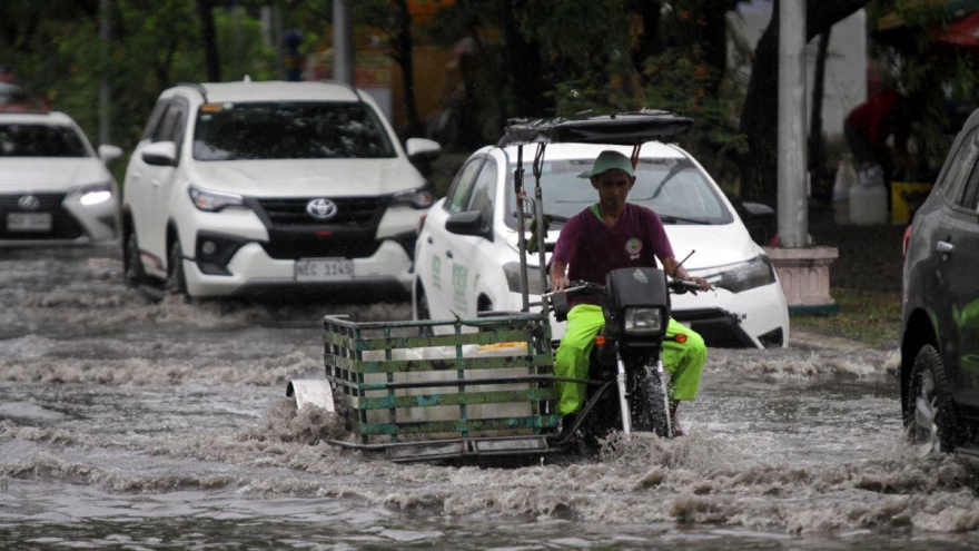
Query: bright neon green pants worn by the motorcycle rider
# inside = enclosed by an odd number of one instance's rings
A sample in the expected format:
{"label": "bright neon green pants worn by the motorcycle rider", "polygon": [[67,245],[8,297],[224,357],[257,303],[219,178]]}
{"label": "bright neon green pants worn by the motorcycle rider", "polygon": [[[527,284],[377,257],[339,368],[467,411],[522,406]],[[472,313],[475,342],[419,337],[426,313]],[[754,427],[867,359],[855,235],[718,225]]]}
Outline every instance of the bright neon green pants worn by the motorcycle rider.
{"label": "bright neon green pants worn by the motorcycle rider", "polygon": [[[554,358],[554,374],[558,377],[589,377],[589,355],[605,316],[602,307],[593,304],[580,304],[567,313],[567,326],[557,355]],[[670,373],[669,385],[671,400],[694,400],[700,387],[700,375],[708,358],[708,348],[696,332],[685,327],[675,319],[670,319],[666,335],[678,333],[686,335],[686,342],[680,344],[668,340],[663,342],[663,367]],[[564,416],[577,412],[587,396],[586,385],[582,383],[557,383],[557,414]]]}

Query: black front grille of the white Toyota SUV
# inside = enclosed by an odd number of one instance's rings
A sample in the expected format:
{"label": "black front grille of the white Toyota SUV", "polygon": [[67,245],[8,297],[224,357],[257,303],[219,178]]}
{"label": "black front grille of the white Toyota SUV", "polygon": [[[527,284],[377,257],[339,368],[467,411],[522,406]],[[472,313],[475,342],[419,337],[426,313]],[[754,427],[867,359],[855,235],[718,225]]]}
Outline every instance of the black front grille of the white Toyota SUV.
{"label": "black front grille of the white Toyota SUV", "polygon": [[317,220],[306,213],[314,198],[250,199],[268,228],[266,253],[277,259],[365,258],[377,250],[377,226],[388,205],[386,197],[330,198],[337,214]]}

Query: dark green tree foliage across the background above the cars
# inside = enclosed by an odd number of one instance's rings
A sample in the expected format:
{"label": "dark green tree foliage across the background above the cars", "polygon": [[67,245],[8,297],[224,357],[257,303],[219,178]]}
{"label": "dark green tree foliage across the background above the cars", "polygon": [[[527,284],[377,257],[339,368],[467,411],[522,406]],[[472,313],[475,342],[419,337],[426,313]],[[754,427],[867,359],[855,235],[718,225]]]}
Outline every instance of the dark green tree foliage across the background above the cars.
{"label": "dark green tree foliage across the background above the cars", "polygon": [[[462,71],[462,111],[471,117],[464,120],[468,127],[462,134],[471,139],[465,147],[494,141],[511,117],[663,109],[696,120],[684,146],[715,176],[740,181],[746,198],[774,205],[778,11],[759,42],[748,45],[753,50],[745,49],[726,30],[726,14],[741,1],[456,0],[422,23],[408,19],[408,0],[350,0],[348,6],[355,24],[377,31],[373,37],[402,71],[413,130],[425,122],[414,106],[414,45],[452,49],[472,43],[478,55]],[[928,18],[943,16],[911,10],[921,3],[874,0],[870,18],[898,10],[912,24],[932,28]],[[308,52],[327,40],[322,35],[333,18],[330,0],[111,0],[111,40],[105,46],[100,4],[3,0],[0,67],[48,98],[52,109],[72,115],[90,136],[98,126],[99,86],[108,78],[111,137],[126,150],[138,139],[161,90],[216,73],[229,80],[246,75],[283,78],[277,45],[281,30],[301,31],[301,49]],[[778,0],[774,4],[778,10]],[[867,4],[809,0],[807,38],[829,31]],[[263,19],[269,13],[274,17]],[[202,14],[212,17],[212,28]],[[930,95],[920,134],[929,155],[938,157],[942,144],[931,138],[941,134],[938,96],[949,90],[955,97],[975,97],[975,67],[936,51],[930,35],[912,36],[921,40],[912,48],[888,45],[876,55],[894,68],[906,90]],[[745,50],[751,50],[750,58]],[[729,70],[731,59],[750,59],[749,80],[742,71]]]}

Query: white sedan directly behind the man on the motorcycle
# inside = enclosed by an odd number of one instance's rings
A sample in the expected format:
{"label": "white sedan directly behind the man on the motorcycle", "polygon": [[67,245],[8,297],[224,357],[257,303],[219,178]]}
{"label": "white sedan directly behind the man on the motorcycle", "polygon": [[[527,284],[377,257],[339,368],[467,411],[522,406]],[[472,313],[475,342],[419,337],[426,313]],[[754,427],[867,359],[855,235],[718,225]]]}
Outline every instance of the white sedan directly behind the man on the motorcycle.
{"label": "white sedan directly behind the man on the motorcycle", "polygon": [[[530,150],[530,152],[527,151]],[[534,147],[523,155],[525,187],[533,195]],[[604,149],[632,147],[550,144],[543,156],[543,210],[551,219],[550,253],[562,220],[596,203],[577,175]],[[428,211],[415,252],[414,314],[418,319],[477,317],[482,312],[524,309],[513,190],[517,146],[488,146],[459,169],[448,194]],[[781,347],[789,342],[789,311],[771,262],[703,167],[683,149],[659,141],[641,148],[629,200],[655,210],[678,259],[715,287],[673,296],[673,317],[713,347]],[[526,237],[530,233],[526,234]],[[527,255],[530,309],[542,293],[537,255]],[[537,309],[538,311],[538,309]],[[552,321],[553,338],[564,334]]]}

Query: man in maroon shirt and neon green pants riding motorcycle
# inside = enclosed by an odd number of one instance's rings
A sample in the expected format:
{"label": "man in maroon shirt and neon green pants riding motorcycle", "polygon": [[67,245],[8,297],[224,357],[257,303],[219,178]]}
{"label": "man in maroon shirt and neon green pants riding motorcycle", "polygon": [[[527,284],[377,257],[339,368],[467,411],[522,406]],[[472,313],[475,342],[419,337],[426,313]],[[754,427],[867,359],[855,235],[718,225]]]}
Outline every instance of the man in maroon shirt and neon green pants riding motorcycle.
{"label": "man in maroon shirt and neon green pants riding motorcycle", "polygon": [[[561,230],[551,257],[548,275],[551,289],[563,292],[571,281],[604,284],[605,275],[615,268],[655,267],[656,258],[673,278],[696,283],[701,291],[710,291],[710,283],[691,277],[673,255],[660,217],[645,207],[626,203],[635,184],[632,161],[619,151],[602,151],[591,171],[578,175],[589,178],[599,193],[599,203],[572,217]],[[554,374],[560,377],[587,378],[589,355],[605,323],[599,296],[567,297],[571,311],[564,337],[557,347]],[[685,341],[672,338],[684,334]],[[671,374],[670,415],[674,435],[682,435],[676,423],[676,407],[681,401],[694,400],[700,376],[706,361],[706,346],[694,331],[670,319],[668,340],[663,344],[663,364]],[[586,387],[581,383],[558,383],[557,414],[562,416],[562,433],[574,424],[585,399]]]}

